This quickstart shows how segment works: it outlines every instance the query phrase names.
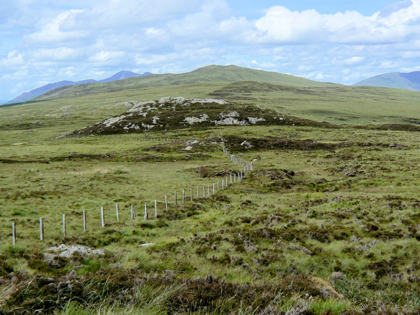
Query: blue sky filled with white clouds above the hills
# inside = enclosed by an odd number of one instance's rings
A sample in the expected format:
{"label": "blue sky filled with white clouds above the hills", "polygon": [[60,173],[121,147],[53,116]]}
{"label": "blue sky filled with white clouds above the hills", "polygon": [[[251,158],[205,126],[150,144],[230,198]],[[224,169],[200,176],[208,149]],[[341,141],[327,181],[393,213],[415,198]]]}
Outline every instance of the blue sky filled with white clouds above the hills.
{"label": "blue sky filled with white clouds above the hills", "polygon": [[420,0],[0,0],[0,100],[211,64],[344,84],[420,71]]}

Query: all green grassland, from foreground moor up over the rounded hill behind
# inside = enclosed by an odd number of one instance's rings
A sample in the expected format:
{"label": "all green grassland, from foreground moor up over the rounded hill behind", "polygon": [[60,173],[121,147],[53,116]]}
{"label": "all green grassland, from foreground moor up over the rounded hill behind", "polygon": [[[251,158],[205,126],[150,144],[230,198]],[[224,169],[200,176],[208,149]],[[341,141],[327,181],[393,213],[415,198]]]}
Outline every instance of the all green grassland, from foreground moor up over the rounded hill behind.
{"label": "all green grassland, from foreground moor up over the rounded hill behind", "polygon": [[[286,79],[288,86],[278,84]],[[71,87],[61,98],[0,108],[1,312],[368,314],[399,308],[417,314],[418,132],[351,125],[414,123],[420,94],[305,87],[295,79],[215,67],[192,77]],[[202,126],[146,134],[199,140],[190,152],[182,150],[184,143],[55,139],[125,112],[128,100],[166,95],[233,99],[350,125]],[[219,144],[204,139],[219,131],[233,154],[254,160],[254,171],[203,198],[203,186],[217,187],[223,172],[240,170]],[[244,148],[244,140],[253,147]],[[14,248],[11,222],[17,226]],[[46,260],[47,248],[61,243],[106,253]]]}

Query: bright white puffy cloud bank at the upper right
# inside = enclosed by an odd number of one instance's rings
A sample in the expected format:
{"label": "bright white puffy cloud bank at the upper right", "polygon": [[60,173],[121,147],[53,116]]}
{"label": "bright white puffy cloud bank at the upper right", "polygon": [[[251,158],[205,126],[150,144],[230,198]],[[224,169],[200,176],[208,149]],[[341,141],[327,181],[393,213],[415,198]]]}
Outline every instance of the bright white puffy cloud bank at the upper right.
{"label": "bright white puffy cloud bank at the upper right", "polygon": [[320,14],[273,6],[255,21],[259,42],[381,44],[406,41],[420,31],[420,0],[383,17],[380,12],[363,16],[356,11]]}

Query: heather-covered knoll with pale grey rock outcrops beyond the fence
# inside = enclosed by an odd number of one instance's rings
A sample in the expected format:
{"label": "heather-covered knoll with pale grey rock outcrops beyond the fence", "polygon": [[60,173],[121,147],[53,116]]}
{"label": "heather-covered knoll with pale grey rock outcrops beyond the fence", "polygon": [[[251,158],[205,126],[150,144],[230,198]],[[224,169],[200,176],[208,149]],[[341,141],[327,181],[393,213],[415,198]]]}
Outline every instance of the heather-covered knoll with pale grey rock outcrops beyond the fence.
{"label": "heather-covered knoll with pale grey rock outcrops beyond the fence", "polygon": [[292,117],[256,105],[220,99],[162,97],[147,102],[130,101],[125,113],[87,126],[73,134],[117,134],[220,125],[292,124]]}

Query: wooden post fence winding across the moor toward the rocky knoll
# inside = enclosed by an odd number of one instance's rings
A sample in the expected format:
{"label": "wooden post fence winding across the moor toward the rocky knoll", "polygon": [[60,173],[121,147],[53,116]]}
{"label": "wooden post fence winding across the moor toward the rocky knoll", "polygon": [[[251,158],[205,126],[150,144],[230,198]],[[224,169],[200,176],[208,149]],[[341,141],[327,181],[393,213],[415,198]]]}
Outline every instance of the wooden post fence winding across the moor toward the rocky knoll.
{"label": "wooden post fence winding across the moor toward the rocky knoll", "polygon": [[[130,135],[98,135],[98,136],[92,136],[89,135],[87,137],[110,137],[110,138],[117,138],[117,139],[134,139],[134,140],[138,140],[138,141],[163,141],[165,143],[181,143],[181,142],[187,142],[188,140],[173,140],[173,139],[169,139],[169,138],[146,138],[146,137],[136,137],[136,136],[130,136]],[[78,138],[82,138],[82,135],[68,135],[66,137],[63,137],[61,139],[78,139]],[[230,153],[229,149],[226,147],[225,142],[222,138],[222,134],[219,133],[217,136],[216,135],[210,135],[207,137],[204,137],[205,139],[209,139],[209,138],[220,138],[221,140],[221,144],[222,144],[222,149],[223,152],[226,154],[226,156],[234,163],[238,164],[241,166],[241,169],[233,174],[229,174],[228,176],[225,176],[225,178],[222,178],[222,182],[220,183],[220,180],[216,182],[213,182],[211,184],[207,185],[207,189],[205,186],[203,186],[202,188],[202,197],[205,198],[210,197],[210,195],[214,195],[215,191],[219,191],[221,189],[225,189],[228,186],[230,186],[231,184],[236,183],[237,181],[241,181],[244,176],[246,174],[248,174],[250,171],[253,170],[253,162],[248,162],[243,158],[239,158],[233,154]],[[243,168],[242,168],[243,167]],[[217,188],[216,188],[216,184],[217,184]],[[221,187],[220,187],[221,186]],[[193,188],[189,187],[189,199],[192,202],[195,198],[193,196]],[[207,194],[206,194],[206,190],[207,190]],[[185,204],[186,198],[188,198],[185,194],[185,189],[182,189],[182,204]],[[200,198],[200,186],[197,186],[197,193],[196,193],[196,199]],[[177,200],[177,191],[174,191],[174,195],[173,195],[174,199],[173,202],[175,205],[178,204],[178,200]],[[168,195],[165,195],[165,210],[168,210]],[[154,199],[154,214],[155,214],[155,218],[158,218],[158,203],[157,203],[157,199]],[[115,204],[115,215],[116,215],[116,221],[119,222],[120,221],[120,208],[119,208],[119,204],[116,203]],[[136,209],[134,207],[133,204],[131,204],[131,219],[134,220],[136,219]],[[143,216],[144,220],[148,220],[149,219],[149,211],[148,211],[148,204],[145,203],[144,204],[144,216]],[[82,221],[83,221],[83,232],[87,232],[87,213],[85,210],[83,210],[82,213]],[[104,207],[100,207],[100,221],[101,221],[101,227],[104,228],[105,227],[105,211],[104,211]],[[63,220],[62,220],[62,228],[63,228],[63,236],[66,237],[67,236],[67,219],[66,219],[66,214],[63,213]],[[16,223],[12,222],[12,245],[15,246],[17,241],[17,234],[16,234]],[[45,240],[44,237],[44,219],[43,218],[39,218],[39,239],[41,241]]]}

